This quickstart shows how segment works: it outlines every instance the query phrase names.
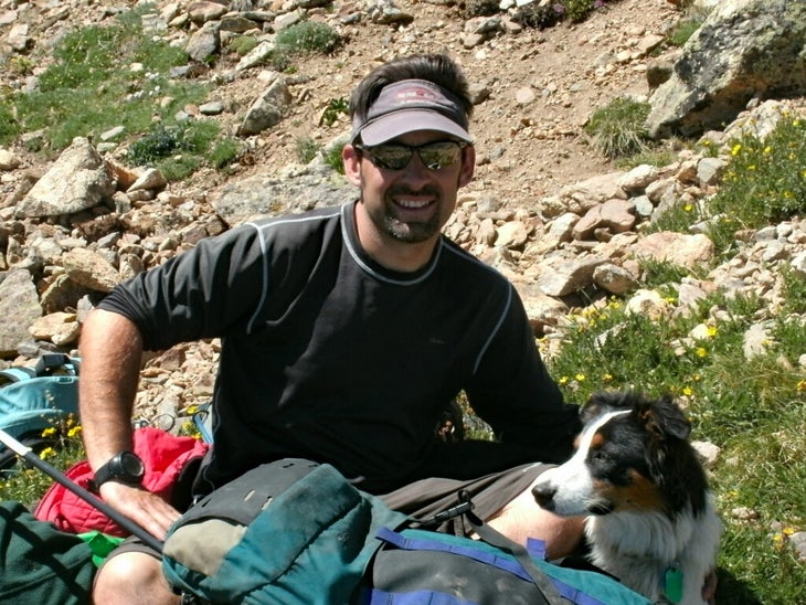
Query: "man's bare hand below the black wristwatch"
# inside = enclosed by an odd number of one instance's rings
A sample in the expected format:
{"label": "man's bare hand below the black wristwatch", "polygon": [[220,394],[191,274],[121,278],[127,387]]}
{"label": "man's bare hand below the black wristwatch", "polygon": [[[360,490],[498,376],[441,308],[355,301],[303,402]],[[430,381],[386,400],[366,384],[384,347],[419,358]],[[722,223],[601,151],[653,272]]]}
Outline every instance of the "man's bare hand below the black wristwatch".
{"label": "man's bare hand below the black wristwatch", "polygon": [[165,540],[168,528],[181,516],[162,498],[141,487],[106,481],[100,486],[99,491],[107,505],[140,526],[157,540]]}

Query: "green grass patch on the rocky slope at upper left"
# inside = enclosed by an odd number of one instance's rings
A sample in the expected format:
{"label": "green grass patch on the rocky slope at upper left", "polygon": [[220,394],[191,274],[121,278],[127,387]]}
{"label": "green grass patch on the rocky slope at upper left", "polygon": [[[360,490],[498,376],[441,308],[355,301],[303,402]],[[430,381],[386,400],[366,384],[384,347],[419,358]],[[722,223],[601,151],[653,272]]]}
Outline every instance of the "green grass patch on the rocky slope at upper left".
{"label": "green grass patch on the rocky slope at upper left", "polygon": [[118,15],[114,25],[91,25],[61,39],[33,92],[0,95],[0,145],[41,131],[29,147],[52,157],[75,137],[97,140],[123,126],[132,166],[147,160],[168,180],[187,178],[205,164],[221,169],[236,159],[240,145],[222,135],[215,121],[178,118],[187,105],[206,99],[209,86],[171,77],[188,56],[144,35],[141,15],[151,10],[142,4]]}

